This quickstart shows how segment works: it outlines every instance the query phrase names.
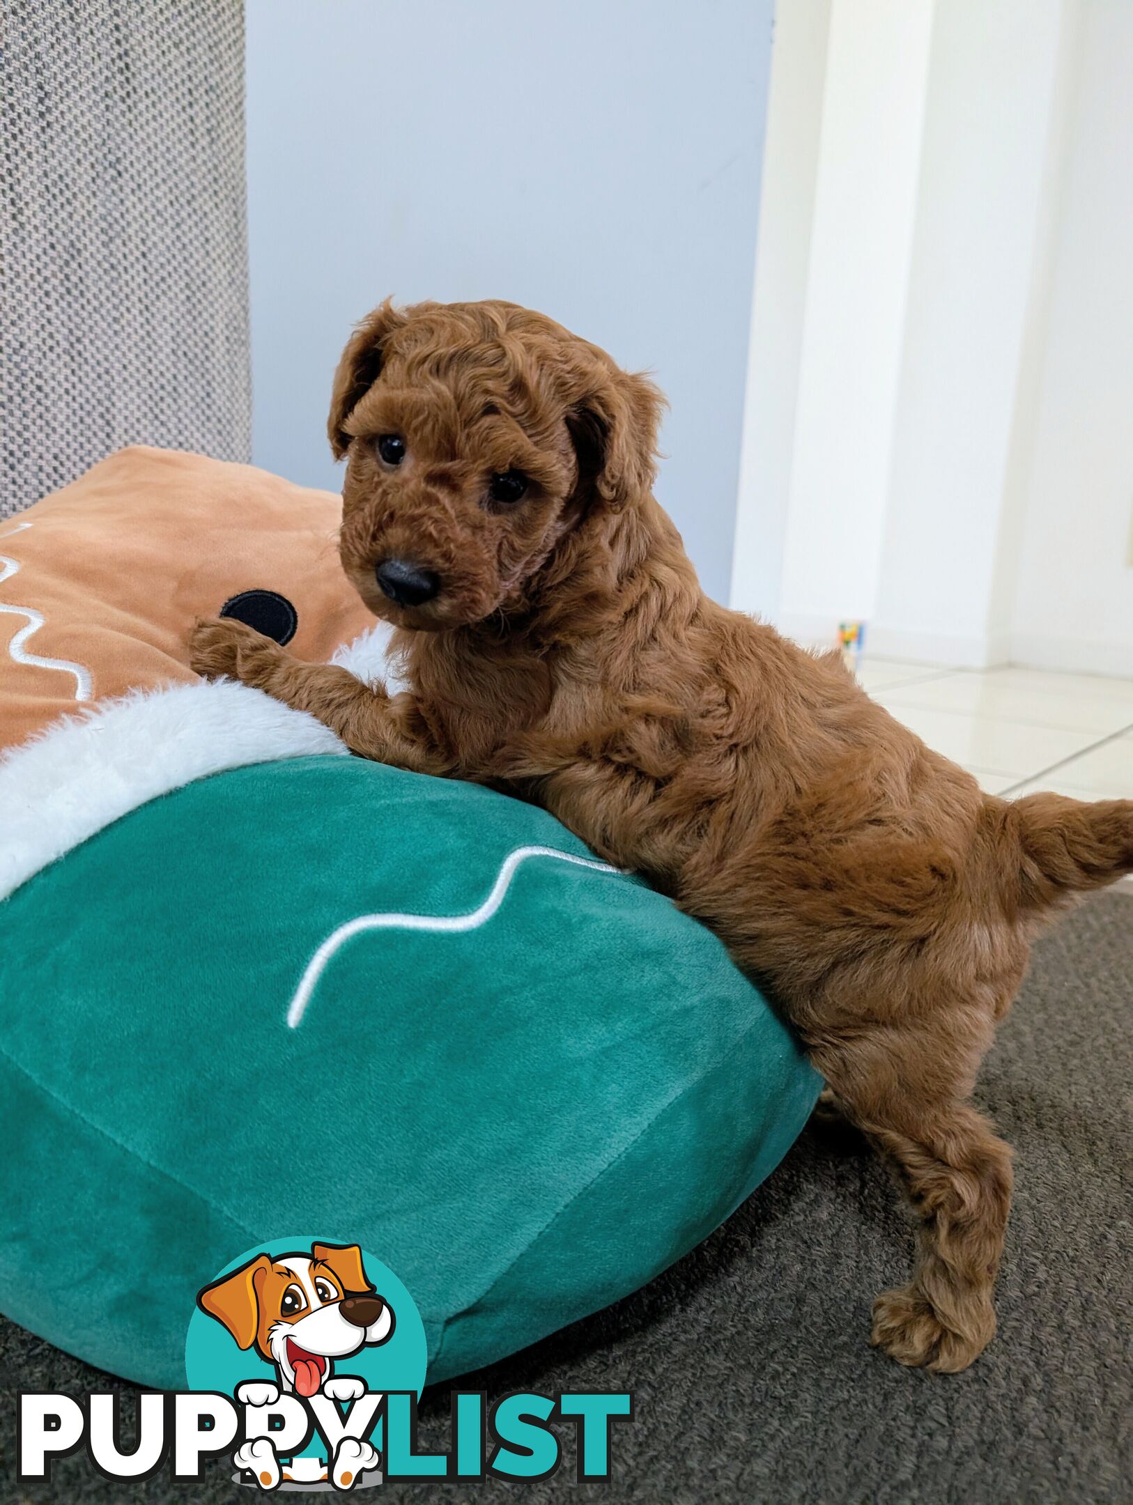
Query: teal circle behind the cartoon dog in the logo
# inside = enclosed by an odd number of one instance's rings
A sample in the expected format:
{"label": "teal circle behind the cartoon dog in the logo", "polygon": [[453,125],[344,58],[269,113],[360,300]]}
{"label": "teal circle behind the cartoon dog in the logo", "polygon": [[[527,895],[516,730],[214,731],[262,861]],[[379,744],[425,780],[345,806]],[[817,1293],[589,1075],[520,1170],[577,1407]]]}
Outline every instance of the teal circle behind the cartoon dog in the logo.
{"label": "teal circle behind the cartoon dog in the logo", "polygon": [[[310,1257],[313,1243],[349,1242],[328,1239],[325,1234],[269,1239],[236,1255],[200,1285],[202,1288],[211,1285],[212,1281],[230,1275],[259,1254],[271,1255],[272,1260],[281,1254]],[[429,1345],[417,1303],[393,1270],[369,1249],[363,1249],[363,1267],[376,1293],[393,1308],[393,1335],[387,1342],[363,1347],[348,1359],[336,1359],[334,1373],[360,1376],[369,1391],[414,1391],[420,1397],[429,1364]],[[185,1338],[185,1379],[191,1391],[221,1391],[224,1395],[233,1395],[236,1386],[245,1380],[275,1382],[277,1374],[274,1364],[262,1359],[254,1348],[239,1348],[227,1327],[200,1306],[194,1306]]]}

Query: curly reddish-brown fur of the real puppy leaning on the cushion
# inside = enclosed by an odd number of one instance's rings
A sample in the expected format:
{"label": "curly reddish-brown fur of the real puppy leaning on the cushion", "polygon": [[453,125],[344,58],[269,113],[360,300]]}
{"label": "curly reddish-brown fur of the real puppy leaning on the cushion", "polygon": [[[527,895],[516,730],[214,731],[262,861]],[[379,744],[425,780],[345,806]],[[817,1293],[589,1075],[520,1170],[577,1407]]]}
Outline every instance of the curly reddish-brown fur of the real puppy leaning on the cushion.
{"label": "curly reddish-brown fur of the real puppy leaning on the cushion", "polygon": [[[919,1221],[874,1303],[901,1364],[992,1338],[1011,1153],[969,1103],[1043,918],[1133,868],[1133,804],[1007,804],[858,688],[709,600],[650,494],[661,396],[515,304],[388,303],[355,331],[330,436],[342,560],[412,689],[299,664],[236,622],[194,664],[310,710],[364,757],[551,810],[710,926],[788,1016]],[[405,439],[400,465],[381,435]],[[528,491],[494,501],[489,477]],[[439,576],[394,605],[375,567]]]}

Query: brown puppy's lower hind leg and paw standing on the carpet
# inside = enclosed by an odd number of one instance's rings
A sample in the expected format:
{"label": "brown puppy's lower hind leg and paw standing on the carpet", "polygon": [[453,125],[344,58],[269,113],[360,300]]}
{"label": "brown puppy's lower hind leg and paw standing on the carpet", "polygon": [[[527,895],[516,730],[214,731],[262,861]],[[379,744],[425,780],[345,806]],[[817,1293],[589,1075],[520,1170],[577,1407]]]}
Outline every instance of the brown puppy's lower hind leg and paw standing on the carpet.
{"label": "brown puppy's lower hind leg and paw standing on the carpet", "polygon": [[[915,1060],[888,1060],[862,1075],[864,1055],[841,1050],[816,1064],[849,1117],[895,1166],[918,1218],[912,1279],[883,1291],[873,1308],[873,1342],[898,1364],[955,1373],[995,1333],[992,1293],[1011,1206],[1011,1150],[964,1102],[966,1082],[948,1091],[940,1054],[906,1041]],[[888,1055],[889,1052],[879,1052]],[[865,1054],[868,1060],[870,1052]],[[840,1070],[841,1067],[841,1070]]]}

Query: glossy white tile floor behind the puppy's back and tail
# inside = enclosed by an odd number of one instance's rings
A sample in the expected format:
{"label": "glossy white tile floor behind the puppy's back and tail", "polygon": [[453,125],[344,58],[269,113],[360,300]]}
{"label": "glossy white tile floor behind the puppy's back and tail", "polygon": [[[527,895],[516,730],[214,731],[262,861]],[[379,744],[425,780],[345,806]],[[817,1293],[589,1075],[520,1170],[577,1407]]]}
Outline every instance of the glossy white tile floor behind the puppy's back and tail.
{"label": "glossy white tile floor behind the puppy's back and tail", "polygon": [[870,656],[859,673],[874,700],[990,795],[1133,799],[1133,680]]}

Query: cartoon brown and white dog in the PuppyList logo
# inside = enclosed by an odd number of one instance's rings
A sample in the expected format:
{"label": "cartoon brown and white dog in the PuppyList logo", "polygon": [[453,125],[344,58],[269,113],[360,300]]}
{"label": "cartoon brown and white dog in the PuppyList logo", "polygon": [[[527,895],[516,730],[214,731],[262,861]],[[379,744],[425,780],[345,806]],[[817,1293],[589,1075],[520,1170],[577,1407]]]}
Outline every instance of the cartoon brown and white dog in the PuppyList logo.
{"label": "cartoon brown and white dog in the PuppyList logo", "polygon": [[[357,1243],[314,1243],[308,1251],[293,1254],[257,1254],[238,1270],[221,1276],[197,1293],[197,1305],[214,1317],[241,1348],[254,1351],[275,1367],[277,1385],[251,1380],[241,1385],[236,1395],[245,1406],[274,1406],[280,1392],[310,1398],[327,1395],[334,1401],[354,1401],[366,1394],[366,1382],[351,1374],[336,1374],[336,1359],[348,1359],[364,1347],[388,1342],[394,1330],[390,1303],[375,1291],[363,1267],[363,1252]],[[345,1439],[343,1446],[346,1446]],[[280,1479],[278,1461],[266,1439],[248,1443],[250,1455],[236,1455],[239,1467],[250,1467],[259,1481],[271,1487]],[[369,1445],[354,1443],[348,1449],[349,1469],[357,1478],[361,1467],[378,1463]],[[251,1455],[254,1454],[254,1457]],[[271,1457],[268,1457],[271,1454]],[[293,1460],[284,1479],[299,1479]],[[337,1473],[348,1466],[336,1457]],[[265,1478],[271,1475],[271,1484]],[[346,1475],[351,1476],[349,1473]]]}

